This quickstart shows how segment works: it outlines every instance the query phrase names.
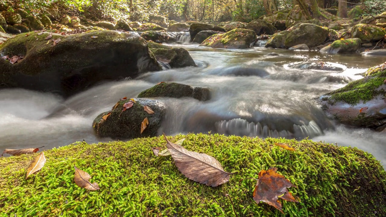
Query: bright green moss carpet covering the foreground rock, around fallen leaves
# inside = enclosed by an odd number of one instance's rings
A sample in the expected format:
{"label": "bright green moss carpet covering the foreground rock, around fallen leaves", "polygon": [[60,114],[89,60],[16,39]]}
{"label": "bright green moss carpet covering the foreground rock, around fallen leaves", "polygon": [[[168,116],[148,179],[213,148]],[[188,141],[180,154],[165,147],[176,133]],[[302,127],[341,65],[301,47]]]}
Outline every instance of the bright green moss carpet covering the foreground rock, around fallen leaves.
{"label": "bright green moss carpet covering the foreground rock, around fallen leaves", "polygon": [[[0,209],[7,216],[238,216],[282,217],[278,210],[257,205],[252,197],[260,170],[277,167],[297,188],[299,203],[282,201],[286,216],[385,216],[386,172],[372,155],[357,148],[309,140],[265,140],[251,137],[188,134],[183,146],[207,153],[231,175],[217,187],[183,176],[172,158],[155,157],[151,147],[166,147],[162,137],[128,142],[78,142],[46,150],[41,171],[25,180],[36,156],[0,159]],[[286,142],[291,152],[274,146]],[[101,190],[74,184],[74,165],[91,175]],[[349,207],[349,209],[347,208]]]}

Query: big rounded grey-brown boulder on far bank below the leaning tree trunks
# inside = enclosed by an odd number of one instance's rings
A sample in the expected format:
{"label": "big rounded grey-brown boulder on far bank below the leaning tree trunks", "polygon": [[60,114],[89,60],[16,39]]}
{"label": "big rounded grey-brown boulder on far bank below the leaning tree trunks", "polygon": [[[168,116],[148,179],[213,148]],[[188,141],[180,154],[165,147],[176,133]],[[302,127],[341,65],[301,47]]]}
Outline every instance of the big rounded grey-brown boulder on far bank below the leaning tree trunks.
{"label": "big rounded grey-brown boulder on far bank below the leaning tree trunks", "polygon": [[308,47],[316,47],[328,37],[327,27],[320,27],[314,24],[301,24],[298,29],[293,30],[286,37],[284,45],[292,47],[297,44],[306,44]]}

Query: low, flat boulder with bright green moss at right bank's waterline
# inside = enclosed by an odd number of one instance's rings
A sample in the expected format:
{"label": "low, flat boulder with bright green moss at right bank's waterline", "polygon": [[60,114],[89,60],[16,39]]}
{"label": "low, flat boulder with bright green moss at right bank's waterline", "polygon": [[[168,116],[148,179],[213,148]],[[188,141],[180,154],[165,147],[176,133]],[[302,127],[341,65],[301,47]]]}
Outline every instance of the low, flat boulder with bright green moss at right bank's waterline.
{"label": "low, flat boulder with bright green moss at right bank's waterline", "polygon": [[361,48],[361,39],[344,39],[323,47],[320,53],[353,53]]}

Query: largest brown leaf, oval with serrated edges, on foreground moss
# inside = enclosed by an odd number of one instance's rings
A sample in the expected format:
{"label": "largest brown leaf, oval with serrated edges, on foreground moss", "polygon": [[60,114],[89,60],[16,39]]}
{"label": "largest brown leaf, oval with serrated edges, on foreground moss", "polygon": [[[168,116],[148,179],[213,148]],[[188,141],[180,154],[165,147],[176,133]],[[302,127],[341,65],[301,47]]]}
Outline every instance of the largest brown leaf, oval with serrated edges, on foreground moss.
{"label": "largest brown leaf, oval with serrated edges, on foreground moss", "polygon": [[178,170],[190,180],[200,184],[216,187],[229,181],[229,175],[225,172],[215,158],[204,153],[188,151],[184,147],[170,142],[165,134],[166,146],[174,159]]}

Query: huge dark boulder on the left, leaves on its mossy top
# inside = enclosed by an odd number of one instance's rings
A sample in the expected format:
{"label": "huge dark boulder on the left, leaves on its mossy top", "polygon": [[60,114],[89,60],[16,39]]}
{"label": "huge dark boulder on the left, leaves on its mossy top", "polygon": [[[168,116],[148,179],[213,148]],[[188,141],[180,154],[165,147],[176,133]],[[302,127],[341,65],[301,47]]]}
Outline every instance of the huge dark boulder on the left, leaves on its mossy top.
{"label": "huge dark boulder on the left, leaves on its mossy top", "polygon": [[[49,34],[50,41],[46,40]],[[116,31],[70,36],[29,32],[5,41],[0,53],[24,56],[14,64],[0,58],[3,87],[53,92],[64,97],[102,80],[134,78],[147,71],[161,70],[142,37]]]}

